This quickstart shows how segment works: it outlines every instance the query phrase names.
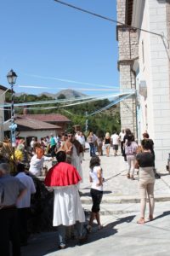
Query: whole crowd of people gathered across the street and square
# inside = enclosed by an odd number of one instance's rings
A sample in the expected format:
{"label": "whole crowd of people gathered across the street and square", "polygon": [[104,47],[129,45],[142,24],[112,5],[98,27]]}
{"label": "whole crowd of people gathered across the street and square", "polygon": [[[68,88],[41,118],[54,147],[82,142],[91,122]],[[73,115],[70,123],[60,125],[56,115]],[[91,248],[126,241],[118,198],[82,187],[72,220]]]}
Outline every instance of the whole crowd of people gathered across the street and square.
{"label": "whole crowd of people gathered across the street and square", "polygon": [[[80,183],[83,182],[82,160],[89,145],[91,157],[89,164],[90,195],[92,211],[88,224],[85,226],[85,215],[80,201]],[[120,146],[121,154],[118,154]],[[59,248],[66,247],[65,236],[68,227],[75,227],[78,241],[86,241],[91,232],[94,219],[97,220],[98,230],[103,228],[100,223],[99,209],[103,196],[103,170],[100,156],[122,155],[127,162],[127,178],[134,180],[134,170],[139,172],[139,195],[141,198],[141,216],[138,224],[144,224],[145,206],[148,195],[150,205],[149,220],[153,220],[154,212],[154,183],[156,175],[154,143],[149,134],[144,132],[141,145],[135,141],[133,133],[126,129],[120,133],[114,131],[105,133],[105,137],[97,137],[90,131],[85,137],[82,131],[64,133],[60,137],[51,134],[50,137],[37,141],[32,137],[29,149],[26,142],[17,139],[12,157],[16,165],[15,177],[11,173],[11,150],[0,143],[0,247],[2,256],[9,255],[9,241],[12,241],[13,255],[20,256],[20,244],[27,244],[27,218],[31,207],[31,194],[36,188],[31,175],[42,175],[44,161],[55,160],[47,173],[44,184],[54,189],[54,226],[58,227]],[[9,159],[9,160],[8,160]],[[44,174],[44,173],[43,173]]]}

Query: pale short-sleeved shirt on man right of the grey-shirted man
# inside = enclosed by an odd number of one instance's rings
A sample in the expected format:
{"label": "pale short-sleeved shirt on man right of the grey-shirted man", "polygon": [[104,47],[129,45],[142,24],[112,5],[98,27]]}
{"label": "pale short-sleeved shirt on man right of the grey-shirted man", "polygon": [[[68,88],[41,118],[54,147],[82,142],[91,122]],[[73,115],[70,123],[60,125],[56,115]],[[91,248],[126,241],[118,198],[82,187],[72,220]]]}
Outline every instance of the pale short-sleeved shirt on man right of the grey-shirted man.
{"label": "pale short-sleeved shirt on man right of the grey-shirted man", "polygon": [[36,188],[34,182],[31,177],[26,175],[25,172],[20,172],[16,175],[20,182],[26,186],[26,194],[21,198],[21,200],[17,203],[17,208],[27,208],[30,207],[31,203],[31,194],[36,193]]}

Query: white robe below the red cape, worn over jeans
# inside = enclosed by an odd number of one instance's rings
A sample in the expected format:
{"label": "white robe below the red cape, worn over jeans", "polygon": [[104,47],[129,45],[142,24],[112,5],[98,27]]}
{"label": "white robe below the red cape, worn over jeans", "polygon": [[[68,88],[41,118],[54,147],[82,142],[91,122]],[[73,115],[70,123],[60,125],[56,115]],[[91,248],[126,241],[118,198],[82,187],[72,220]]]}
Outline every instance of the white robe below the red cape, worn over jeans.
{"label": "white robe below the red cape, worn over jeans", "polygon": [[70,226],[77,221],[81,223],[85,221],[77,185],[54,187],[53,225]]}

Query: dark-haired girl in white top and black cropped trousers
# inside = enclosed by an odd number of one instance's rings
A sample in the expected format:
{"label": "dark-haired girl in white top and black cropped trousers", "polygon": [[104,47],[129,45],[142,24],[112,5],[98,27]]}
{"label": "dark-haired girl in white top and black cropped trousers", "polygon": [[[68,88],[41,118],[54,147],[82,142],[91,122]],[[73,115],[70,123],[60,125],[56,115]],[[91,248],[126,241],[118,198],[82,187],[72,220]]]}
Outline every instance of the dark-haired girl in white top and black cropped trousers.
{"label": "dark-haired girl in white top and black cropped trousers", "polygon": [[103,196],[103,175],[102,169],[100,167],[100,160],[98,156],[94,156],[90,160],[90,173],[89,179],[92,183],[92,187],[90,190],[90,194],[92,196],[93,206],[92,212],[90,215],[89,224],[87,226],[88,232],[92,230],[92,224],[94,222],[94,218],[96,218],[98,223],[98,230],[101,230],[103,226],[100,223],[99,218],[99,205]]}

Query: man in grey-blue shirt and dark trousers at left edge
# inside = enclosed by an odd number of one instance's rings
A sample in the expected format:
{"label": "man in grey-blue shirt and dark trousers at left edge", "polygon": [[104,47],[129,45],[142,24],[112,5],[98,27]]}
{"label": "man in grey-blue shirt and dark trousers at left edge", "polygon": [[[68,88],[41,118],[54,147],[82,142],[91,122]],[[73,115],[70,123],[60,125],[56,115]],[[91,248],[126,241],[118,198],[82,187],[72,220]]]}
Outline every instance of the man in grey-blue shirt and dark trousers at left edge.
{"label": "man in grey-blue shirt and dark trousers at left edge", "polygon": [[9,255],[9,240],[13,256],[20,256],[20,236],[16,205],[26,193],[26,186],[10,174],[7,163],[0,164],[0,254]]}

